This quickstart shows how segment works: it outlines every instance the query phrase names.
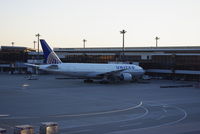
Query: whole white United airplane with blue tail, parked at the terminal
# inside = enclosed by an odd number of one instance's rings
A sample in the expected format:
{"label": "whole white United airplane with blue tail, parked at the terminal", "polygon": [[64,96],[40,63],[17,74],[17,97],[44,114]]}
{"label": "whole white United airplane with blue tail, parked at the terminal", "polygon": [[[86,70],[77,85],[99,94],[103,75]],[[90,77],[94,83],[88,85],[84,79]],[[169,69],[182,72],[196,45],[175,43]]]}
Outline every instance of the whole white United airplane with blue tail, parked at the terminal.
{"label": "whole white United airplane with blue tail, parked at the terminal", "polygon": [[44,39],[40,39],[43,49],[44,65],[33,65],[40,70],[63,74],[68,77],[84,79],[91,83],[95,79],[102,82],[133,81],[143,76],[144,69],[133,64],[63,63]]}

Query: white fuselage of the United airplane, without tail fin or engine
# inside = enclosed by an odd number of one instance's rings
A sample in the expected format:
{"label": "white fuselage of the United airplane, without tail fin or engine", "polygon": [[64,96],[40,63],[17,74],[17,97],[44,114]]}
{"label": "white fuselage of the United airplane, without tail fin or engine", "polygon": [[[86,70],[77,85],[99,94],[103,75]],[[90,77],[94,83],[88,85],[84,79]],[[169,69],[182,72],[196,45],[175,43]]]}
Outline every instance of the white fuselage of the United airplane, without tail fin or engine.
{"label": "white fuselage of the United airplane, without tail fin or engine", "polygon": [[61,64],[46,64],[40,65],[39,69],[65,74],[72,77],[88,77],[94,78],[101,74],[112,73],[118,70],[121,73],[130,73],[132,76],[141,76],[144,70],[133,64],[91,64],[91,63],[61,63]]}

